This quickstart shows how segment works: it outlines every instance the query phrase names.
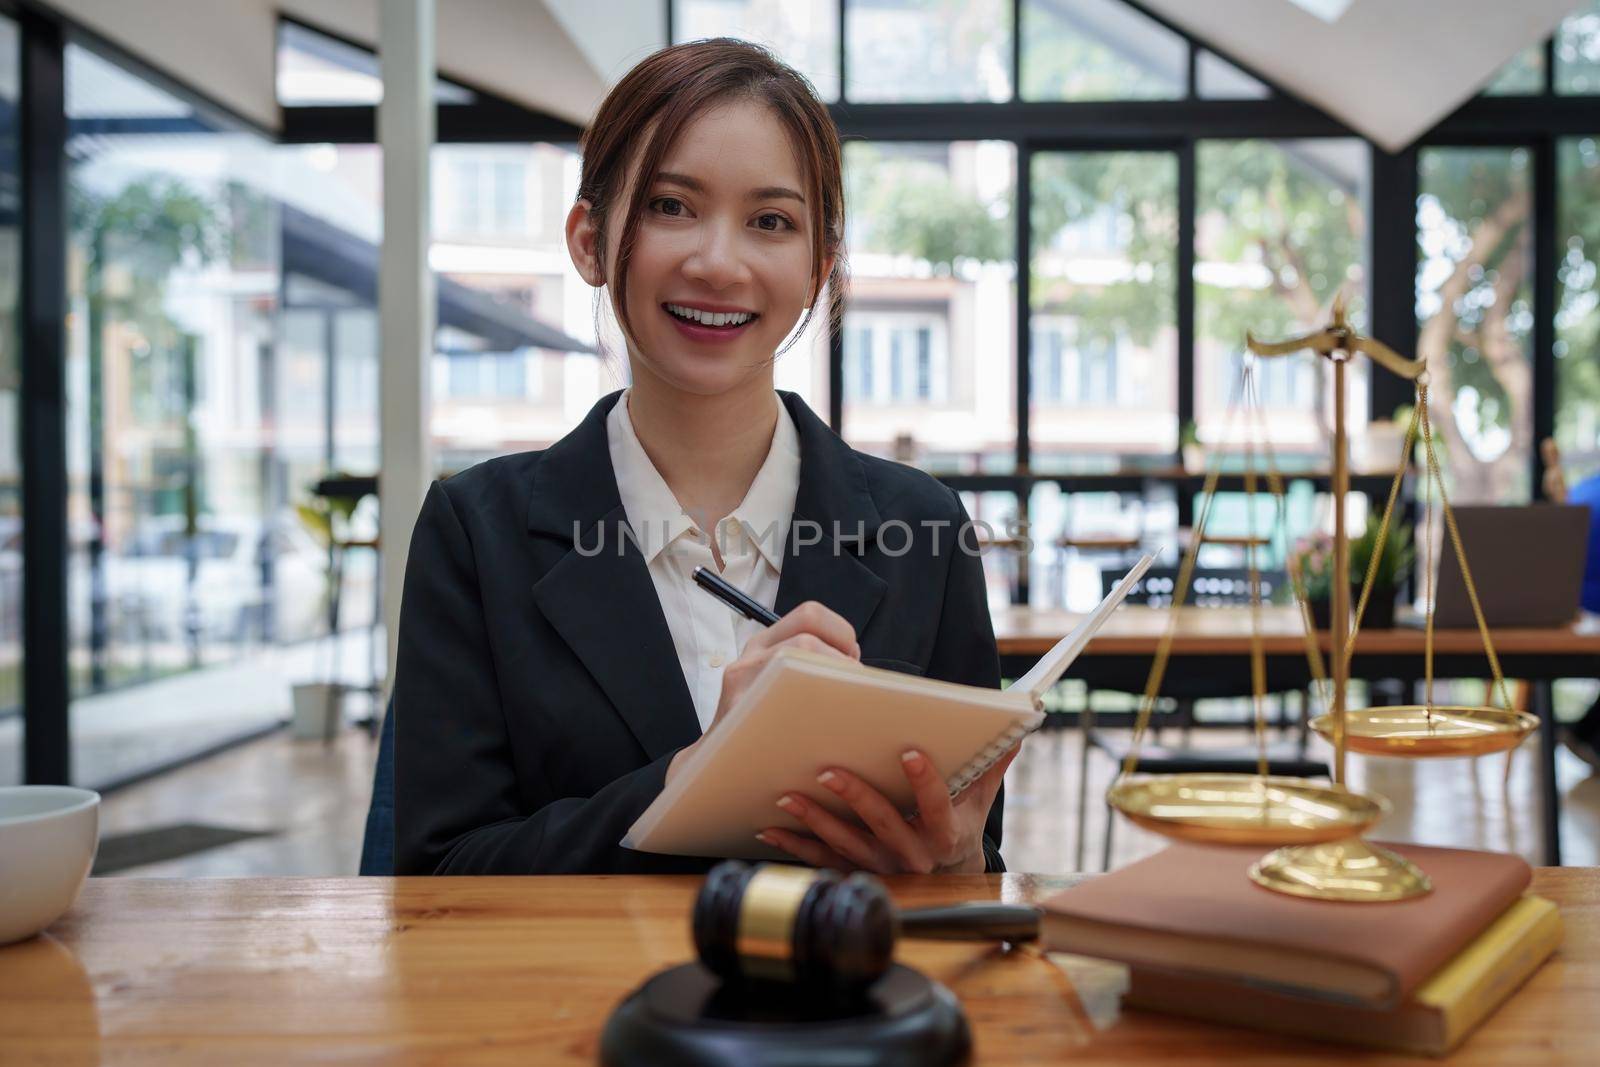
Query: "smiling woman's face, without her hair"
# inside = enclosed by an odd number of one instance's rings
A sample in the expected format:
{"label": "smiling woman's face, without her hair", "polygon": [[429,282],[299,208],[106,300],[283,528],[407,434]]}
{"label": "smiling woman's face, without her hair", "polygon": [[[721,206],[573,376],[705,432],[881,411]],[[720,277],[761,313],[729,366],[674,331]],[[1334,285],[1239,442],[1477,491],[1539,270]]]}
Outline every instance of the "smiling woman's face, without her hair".
{"label": "smiling woman's face, without her hair", "polygon": [[[629,176],[619,203],[634,181],[650,184],[627,278],[635,381],[648,373],[717,395],[771,378],[773,354],[811,302],[814,224],[778,117],[755,101],[712,107],[685,125],[656,174]],[[610,230],[614,270],[619,214]]]}

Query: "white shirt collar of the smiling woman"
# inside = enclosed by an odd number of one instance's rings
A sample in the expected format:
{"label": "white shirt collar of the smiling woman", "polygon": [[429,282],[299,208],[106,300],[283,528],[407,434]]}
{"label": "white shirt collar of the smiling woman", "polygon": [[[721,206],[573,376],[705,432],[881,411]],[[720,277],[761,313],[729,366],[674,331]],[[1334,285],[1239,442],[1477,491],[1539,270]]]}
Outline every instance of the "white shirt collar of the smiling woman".
{"label": "white shirt collar of the smiling woman", "polygon": [[[632,390],[622,390],[606,414],[606,445],[611,451],[611,469],[616,474],[622,510],[648,565],[664,547],[691,530],[694,520],[678,504],[640,443],[634,421],[627,414],[629,392]],[[774,571],[782,571],[784,545],[789,544],[789,525],[798,488],[800,435],[787,405],[779,400],[778,424],[773,427],[773,443],[766,450],[766,459],[755,472],[744,499],[730,514],[730,518],[744,526],[746,537]]]}

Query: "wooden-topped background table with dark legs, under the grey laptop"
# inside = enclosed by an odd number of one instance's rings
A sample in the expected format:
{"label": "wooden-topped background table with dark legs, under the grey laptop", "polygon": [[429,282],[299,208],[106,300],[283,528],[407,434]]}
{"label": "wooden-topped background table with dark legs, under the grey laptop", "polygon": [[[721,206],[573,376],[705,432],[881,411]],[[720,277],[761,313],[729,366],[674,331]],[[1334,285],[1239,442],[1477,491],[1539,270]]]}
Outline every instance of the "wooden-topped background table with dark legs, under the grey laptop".
{"label": "wooden-topped background table with dark legs, under the grey laptop", "polygon": [[[1150,659],[1166,629],[1166,609],[1128,605],[1117,609],[1083,656],[1067,672],[1091,686],[1142,693]],[[1026,672],[1051,645],[1070,633],[1082,616],[1038,608],[998,608],[992,614],[1000,646],[1002,673],[1014,678]],[[1267,688],[1301,688],[1309,677],[1306,640],[1296,609],[1261,609],[1262,646],[1267,659]],[[1557,678],[1600,677],[1600,617],[1586,616],[1565,627],[1494,629],[1494,653],[1507,678],[1526,678],[1530,707],[1539,717],[1539,793],[1544,862],[1562,862],[1560,792],[1555,784],[1555,718],[1550,683]],[[1350,659],[1352,678],[1421,678],[1422,630],[1362,630]],[[1322,635],[1328,654],[1328,635]],[[1250,689],[1250,608],[1182,608],[1173,638],[1170,673],[1203,669],[1206,677],[1229,678]],[[1197,661],[1203,657],[1203,664]],[[1326,659],[1325,659],[1326,662]],[[1434,675],[1437,678],[1488,677],[1483,643],[1472,630],[1435,630]]]}

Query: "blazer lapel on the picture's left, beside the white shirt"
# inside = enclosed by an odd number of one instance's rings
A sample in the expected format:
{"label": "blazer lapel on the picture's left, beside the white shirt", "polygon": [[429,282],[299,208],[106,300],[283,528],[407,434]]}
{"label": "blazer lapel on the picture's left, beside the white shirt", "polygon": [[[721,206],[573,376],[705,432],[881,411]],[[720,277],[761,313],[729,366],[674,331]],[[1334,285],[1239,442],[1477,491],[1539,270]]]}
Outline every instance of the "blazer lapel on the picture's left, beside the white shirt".
{"label": "blazer lapel on the picture's left, beside the white shirt", "polygon": [[539,461],[528,509],[534,536],[571,545],[533,587],[555,627],[651,760],[693,742],[699,717],[645,557],[616,491],[602,398]]}

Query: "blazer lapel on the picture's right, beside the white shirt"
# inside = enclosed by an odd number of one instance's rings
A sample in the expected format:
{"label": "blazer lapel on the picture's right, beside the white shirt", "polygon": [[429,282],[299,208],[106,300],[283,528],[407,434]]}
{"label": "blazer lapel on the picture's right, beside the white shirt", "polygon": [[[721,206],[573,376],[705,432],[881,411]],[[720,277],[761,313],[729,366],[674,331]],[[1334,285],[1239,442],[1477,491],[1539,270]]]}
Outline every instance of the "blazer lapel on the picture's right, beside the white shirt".
{"label": "blazer lapel on the picture's right, beside the white shirt", "polygon": [[859,637],[888,589],[859,558],[877,534],[878,509],[856,453],[800,397],[779,395],[800,438],[800,486],[773,609],[818,600]]}

